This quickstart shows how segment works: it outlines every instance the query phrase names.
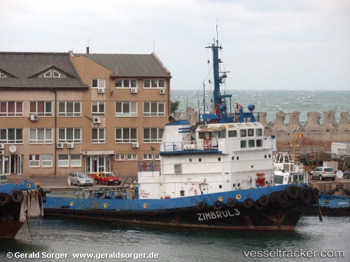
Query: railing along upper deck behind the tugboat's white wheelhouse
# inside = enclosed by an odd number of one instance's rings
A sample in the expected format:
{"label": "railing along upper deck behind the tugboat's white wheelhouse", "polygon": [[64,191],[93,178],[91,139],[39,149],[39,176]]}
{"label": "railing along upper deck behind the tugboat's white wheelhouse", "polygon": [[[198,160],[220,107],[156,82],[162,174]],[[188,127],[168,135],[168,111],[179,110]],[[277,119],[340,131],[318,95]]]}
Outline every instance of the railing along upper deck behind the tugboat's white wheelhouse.
{"label": "railing along upper deck behind the tugboat's white wheelhouse", "polygon": [[164,148],[165,152],[218,150],[217,145],[213,145],[211,140],[165,142]]}

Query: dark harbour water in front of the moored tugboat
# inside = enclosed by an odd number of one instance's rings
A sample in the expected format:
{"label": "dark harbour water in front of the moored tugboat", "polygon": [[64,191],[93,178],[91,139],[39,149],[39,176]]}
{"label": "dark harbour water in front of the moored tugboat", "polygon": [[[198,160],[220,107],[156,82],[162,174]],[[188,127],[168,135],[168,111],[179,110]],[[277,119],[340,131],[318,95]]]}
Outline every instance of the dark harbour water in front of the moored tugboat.
{"label": "dark harbour water in front of the moored tugboat", "polygon": [[0,241],[0,261],[350,261],[350,217],[323,219],[304,216],[291,232],[31,219],[15,240]]}

